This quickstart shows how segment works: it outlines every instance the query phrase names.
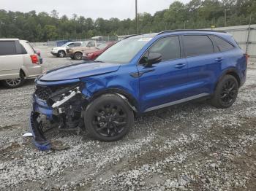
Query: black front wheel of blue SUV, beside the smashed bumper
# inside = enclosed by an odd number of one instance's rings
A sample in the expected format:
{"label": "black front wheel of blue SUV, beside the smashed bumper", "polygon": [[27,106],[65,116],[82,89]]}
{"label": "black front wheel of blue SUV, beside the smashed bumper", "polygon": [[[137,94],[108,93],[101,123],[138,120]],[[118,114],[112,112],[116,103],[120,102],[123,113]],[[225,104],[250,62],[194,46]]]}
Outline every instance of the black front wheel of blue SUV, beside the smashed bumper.
{"label": "black front wheel of blue SUV, beside the smashed bumper", "polygon": [[129,132],[134,123],[134,114],[118,95],[105,94],[87,106],[84,122],[92,138],[117,141]]}

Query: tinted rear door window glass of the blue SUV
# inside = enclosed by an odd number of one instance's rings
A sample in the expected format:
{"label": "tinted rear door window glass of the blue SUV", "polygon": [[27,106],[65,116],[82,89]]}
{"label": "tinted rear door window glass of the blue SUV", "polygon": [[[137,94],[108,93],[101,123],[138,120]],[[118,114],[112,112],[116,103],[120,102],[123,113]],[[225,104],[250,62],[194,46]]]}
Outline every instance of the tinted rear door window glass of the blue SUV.
{"label": "tinted rear door window glass of the blue SUV", "polygon": [[214,53],[214,45],[208,36],[187,35],[184,36],[184,47],[187,56],[206,55]]}

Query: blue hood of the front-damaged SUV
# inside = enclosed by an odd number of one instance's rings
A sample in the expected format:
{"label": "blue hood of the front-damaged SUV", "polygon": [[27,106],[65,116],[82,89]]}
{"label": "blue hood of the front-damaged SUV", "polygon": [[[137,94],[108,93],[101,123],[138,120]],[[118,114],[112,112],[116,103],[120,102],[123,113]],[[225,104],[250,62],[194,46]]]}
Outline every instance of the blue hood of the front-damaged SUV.
{"label": "blue hood of the front-damaged SUV", "polygon": [[91,77],[117,71],[121,65],[116,63],[78,63],[48,71],[40,81],[61,81]]}

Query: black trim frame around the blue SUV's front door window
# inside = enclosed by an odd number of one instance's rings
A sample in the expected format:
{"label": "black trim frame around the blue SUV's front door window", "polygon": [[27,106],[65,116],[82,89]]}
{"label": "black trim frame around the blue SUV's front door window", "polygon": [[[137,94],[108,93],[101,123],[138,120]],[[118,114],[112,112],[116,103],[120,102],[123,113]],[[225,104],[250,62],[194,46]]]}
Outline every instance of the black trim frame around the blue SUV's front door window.
{"label": "black trim frame around the blue SUV's front door window", "polygon": [[148,48],[145,52],[143,52],[143,54],[140,56],[140,59],[138,59],[138,63],[137,63],[137,66],[142,66],[140,64],[140,60],[141,58],[143,57],[143,55],[146,54],[146,52],[148,52],[149,49],[151,49],[151,47],[154,46],[154,44],[156,44],[157,42],[159,42],[159,40],[161,39],[165,39],[165,38],[168,38],[168,37],[172,37],[172,36],[178,36],[178,41],[179,41],[179,44],[180,44],[180,58],[175,58],[175,59],[170,59],[170,60],[166,60],[166,61],[161,61],[160,63],[165,63],[165,62],[168,62],[168,61],[176,61],[178,59],[182,59],[182,58],[185,58],[185,55],[184,55],[184,45],[183,43],[181,42],[181,35],[180,34],[170,34],[170,35],[167,35],[167,36],[162,36],[161,38],[157,39],[156,41],[154,41]]}

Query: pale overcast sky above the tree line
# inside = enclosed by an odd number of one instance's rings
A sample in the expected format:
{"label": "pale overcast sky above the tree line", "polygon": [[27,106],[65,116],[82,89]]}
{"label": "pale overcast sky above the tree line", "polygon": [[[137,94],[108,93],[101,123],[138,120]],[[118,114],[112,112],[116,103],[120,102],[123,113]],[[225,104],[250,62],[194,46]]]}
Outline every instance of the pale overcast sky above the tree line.
{"label": "pale overcast sky above the tree line", "polygon": [[[138,0],[138,12],[155,12],[167,9],[175,0]],[[189,0],[179,0],[187,3]],[[119,19],[135,17],[135,0],[0,0],[0,9],[10,11],[50,13],[53,9],[59,16],[72,14],[97,19],[118,17]]]}

